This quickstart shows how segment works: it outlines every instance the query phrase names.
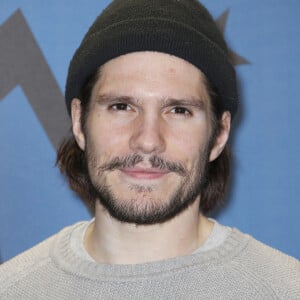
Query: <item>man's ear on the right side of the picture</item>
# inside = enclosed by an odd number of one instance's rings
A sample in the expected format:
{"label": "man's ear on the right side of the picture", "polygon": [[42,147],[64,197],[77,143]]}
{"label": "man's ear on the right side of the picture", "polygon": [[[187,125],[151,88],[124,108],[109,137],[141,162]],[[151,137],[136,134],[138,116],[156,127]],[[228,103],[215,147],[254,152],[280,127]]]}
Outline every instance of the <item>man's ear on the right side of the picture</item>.
{"label": "man's ear on the right side of the picture", "polygon": [[228,141],[231,124],[231,115],[229,111],[223,113],[221,123],[221,130],[210,151],[209,161],[215,160],[221,154]]}

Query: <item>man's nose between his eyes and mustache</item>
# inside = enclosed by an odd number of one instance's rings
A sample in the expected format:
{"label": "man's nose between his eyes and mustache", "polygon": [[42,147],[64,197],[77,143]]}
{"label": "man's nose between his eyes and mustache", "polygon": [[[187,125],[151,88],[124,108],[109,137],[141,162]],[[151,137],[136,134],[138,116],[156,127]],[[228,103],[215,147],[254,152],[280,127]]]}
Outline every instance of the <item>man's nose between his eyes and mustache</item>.
{"label": "man's nose between his eyes and mustache", "polygon": [[142,115],[134,125],[129,141],[131,150],[143,154],[159,154],[165,151],[163,120],[159,116]]}

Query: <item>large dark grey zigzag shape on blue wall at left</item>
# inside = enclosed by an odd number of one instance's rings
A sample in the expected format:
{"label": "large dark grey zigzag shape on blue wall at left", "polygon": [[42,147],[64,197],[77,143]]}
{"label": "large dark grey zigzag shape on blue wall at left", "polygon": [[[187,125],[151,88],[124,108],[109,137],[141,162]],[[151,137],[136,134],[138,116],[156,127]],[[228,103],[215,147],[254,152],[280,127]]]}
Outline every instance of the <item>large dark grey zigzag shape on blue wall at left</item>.
{"label": "large dark grey zigzag shape on blue wall at left", "polygon": [[20,85],[57,148],[70,126],[64,97],[20,10],[0,26],[0,40],[0,100]]}

